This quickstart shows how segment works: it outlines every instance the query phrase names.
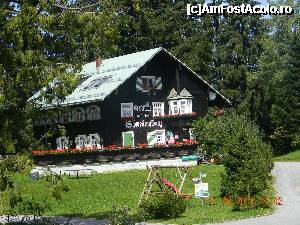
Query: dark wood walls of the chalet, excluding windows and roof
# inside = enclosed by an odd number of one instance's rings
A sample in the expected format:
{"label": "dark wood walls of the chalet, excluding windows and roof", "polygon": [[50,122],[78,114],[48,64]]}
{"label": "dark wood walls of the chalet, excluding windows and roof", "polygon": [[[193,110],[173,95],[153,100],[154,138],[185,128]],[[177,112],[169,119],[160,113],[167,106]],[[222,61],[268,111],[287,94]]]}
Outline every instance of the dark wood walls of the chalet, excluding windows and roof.
{"label": "dark wood walls of the chalet, excluding windows and roof", "polygon": [[[161,77],[161,90],[138,91],[136,82],[141,76]],[[101,113],[101,119],[99,120],[62,124],[66,128],[69,140],[72,141],[72,143],[69,143],[69,147],[76,147],[76,136],[93,133],[99,134],[104,146],[113,144],[122,146],[124,144],[122,133],[128,131],[132,131],[134,134],[135,146],[147,143],[147,134],[154,130],[165,130],[165,135],[167,132],[172,133],[175,141],[190,139],[190,122],[195,117],[153,118],[152,111],[153,102],[163,102],[164,114],[168,115],[168,95],[172,89],[179,94],[184,88],[192,95],[192,112],[196,113],[197,117],[204,116],[210,106],[222,107],[226,105],[226,101],[219,94],[213,101],[210,101],[208,98],[209,92],[212,91],[210,86],[169,53],[162,51],[107,96],[104,101],[69,106],[69,109],[78,106],[86,109],[91,104],[97,105],[100,107]],[[121,103],[133,103],[133,117],[121,118]],[[134,127],[137,123],[142,126]],[[47,128],[48,125],[36,126],[37,136],[42,136]],[[47,140],[49,148],[57,148],[56,138],[53,137]]]}

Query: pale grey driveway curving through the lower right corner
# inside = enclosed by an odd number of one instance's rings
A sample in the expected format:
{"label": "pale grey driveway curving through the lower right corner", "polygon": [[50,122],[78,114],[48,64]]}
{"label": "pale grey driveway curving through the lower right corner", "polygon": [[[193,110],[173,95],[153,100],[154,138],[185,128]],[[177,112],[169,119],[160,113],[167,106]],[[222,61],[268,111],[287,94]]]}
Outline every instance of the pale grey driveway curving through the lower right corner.
{"label": "pale grey driveway curving through the lower right corner", "polygon": [[214,225],[300,225],[300,162],[276,162],[272,173],[283,199],[274,214]]}

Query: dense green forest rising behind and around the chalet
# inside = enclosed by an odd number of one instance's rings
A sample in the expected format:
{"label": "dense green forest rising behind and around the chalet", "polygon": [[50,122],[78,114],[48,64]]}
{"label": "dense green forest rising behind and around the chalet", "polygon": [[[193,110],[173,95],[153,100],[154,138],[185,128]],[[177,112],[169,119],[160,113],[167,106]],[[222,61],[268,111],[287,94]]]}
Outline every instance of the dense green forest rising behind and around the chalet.
{"label": "dense green forest rising behind and around the chalet", "polygon": [[[194,1],[203,3],[202,1]],[[213,0],[212,4],[257,4]],[[214,85],[277,154],[300,145],[300,14],[191,17],[177,0],[0,2],[0,154],[36,148],[28,103],[63,99],[83,64],[164,47]],[[300,7],[299,1],[274,5]],[[71,68],[71,69],[70,69]]]}

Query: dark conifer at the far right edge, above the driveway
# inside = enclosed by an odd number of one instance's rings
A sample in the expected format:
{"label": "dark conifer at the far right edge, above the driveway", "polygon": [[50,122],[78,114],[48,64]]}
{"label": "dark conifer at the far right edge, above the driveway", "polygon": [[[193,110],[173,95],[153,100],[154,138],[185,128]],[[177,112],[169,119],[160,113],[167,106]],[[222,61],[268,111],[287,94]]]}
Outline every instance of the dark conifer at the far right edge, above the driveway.
{"label": "dark conifer at the far right edge, above the driveway", "polygon": [[288,68],[275,85],[275,100],[271,109],[274,129],[271,135],[277,151],[290,151],[300,146],[300,35],[291,42]]}

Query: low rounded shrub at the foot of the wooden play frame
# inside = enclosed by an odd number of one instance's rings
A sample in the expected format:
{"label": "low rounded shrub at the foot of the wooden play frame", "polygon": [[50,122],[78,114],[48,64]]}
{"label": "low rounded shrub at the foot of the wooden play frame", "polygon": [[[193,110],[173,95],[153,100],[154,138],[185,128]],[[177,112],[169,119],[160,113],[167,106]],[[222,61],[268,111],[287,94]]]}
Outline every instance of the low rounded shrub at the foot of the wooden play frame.
{"label": "low rounded shrub at the foot of the wooden play frame", "polygon": [[186,210],[184,198],[170,190],[151,195],[141,208],[151,218],[179,217]]}

